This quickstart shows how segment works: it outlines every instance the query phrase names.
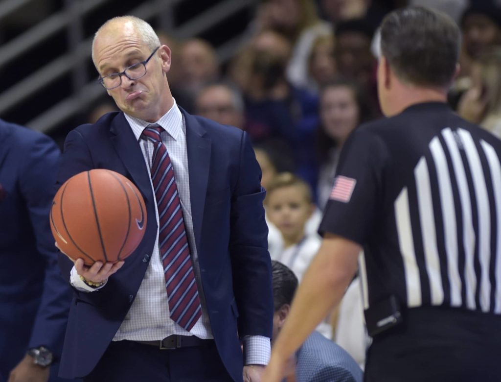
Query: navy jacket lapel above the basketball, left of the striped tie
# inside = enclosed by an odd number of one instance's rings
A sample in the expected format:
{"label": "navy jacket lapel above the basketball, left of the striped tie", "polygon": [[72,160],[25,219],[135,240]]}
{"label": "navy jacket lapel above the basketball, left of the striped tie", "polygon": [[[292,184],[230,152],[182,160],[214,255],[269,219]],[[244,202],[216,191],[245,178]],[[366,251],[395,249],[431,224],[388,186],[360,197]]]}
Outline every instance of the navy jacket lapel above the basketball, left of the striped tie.
{"label": "navy jacket lapel above the basketball, left of the striped tie", "polygon": [[123,113],[118,113],[113,119],[110,133],[112,144],[131,174],[132,180],[141,191],[143,198],[145,198],[145,202],[148,200],[154,203],[150,176],[144,162],[141,147]]}

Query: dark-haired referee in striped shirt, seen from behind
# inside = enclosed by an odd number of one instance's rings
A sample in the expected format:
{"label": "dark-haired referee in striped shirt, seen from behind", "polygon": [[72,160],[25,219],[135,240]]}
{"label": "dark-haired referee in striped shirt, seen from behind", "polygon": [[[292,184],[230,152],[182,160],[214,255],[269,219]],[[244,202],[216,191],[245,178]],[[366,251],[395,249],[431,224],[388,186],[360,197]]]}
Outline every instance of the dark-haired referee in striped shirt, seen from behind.
{"label": "dark-haired referee in striped shirt, seen from behind", "polygon": [[460,34],[422,7],[381,26],[379,100],[341,153],[307,271],[263,380],[341,300],[360,257],[366,381],[501,380],[501,141],[454,114]]}

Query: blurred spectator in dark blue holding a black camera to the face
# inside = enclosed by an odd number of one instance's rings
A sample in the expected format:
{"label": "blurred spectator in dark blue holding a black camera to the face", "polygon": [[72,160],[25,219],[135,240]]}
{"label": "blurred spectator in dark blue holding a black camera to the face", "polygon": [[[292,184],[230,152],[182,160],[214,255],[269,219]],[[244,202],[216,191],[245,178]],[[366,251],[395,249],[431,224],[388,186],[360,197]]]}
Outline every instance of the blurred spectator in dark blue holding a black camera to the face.
{"label": "blurred spectator in dark blue holding a black camera to the face", "polygon": [[264,32],[249,49],[253,56],[245,91],[245,130],[254,142],[269,138],[287,142],[298,165],[297,173],[311,183],[318,98],[287,81],[290,46],[283,36]]}

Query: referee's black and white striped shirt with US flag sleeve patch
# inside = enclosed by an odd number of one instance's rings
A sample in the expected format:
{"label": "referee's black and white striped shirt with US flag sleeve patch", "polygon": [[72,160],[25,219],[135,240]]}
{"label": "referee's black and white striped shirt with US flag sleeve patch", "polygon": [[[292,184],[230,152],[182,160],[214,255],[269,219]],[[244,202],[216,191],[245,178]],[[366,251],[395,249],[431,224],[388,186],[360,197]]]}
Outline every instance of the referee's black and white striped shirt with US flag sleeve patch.
{"label": "referee's black and white striped shirt with US flag sleeve patch", "polygon": [[364,247],[365,307],[501,314],[501,141],[446,104],[361,126],[341,154],[321,232]]}

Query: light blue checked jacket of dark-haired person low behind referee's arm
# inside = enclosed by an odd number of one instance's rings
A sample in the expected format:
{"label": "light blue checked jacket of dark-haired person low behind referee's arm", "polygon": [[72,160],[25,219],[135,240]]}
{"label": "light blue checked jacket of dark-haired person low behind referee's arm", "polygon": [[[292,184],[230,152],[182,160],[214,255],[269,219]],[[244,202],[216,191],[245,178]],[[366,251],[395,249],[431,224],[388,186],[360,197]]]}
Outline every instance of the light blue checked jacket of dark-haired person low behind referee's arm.
{"label": "light blue checked jacket of dark-haired person low behind referee's arm", "polygon": [[363,372],[341,346],[314,331],[297,352],[298,382],[362,382]]}

